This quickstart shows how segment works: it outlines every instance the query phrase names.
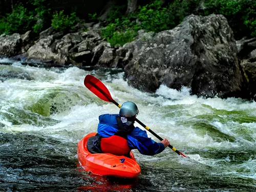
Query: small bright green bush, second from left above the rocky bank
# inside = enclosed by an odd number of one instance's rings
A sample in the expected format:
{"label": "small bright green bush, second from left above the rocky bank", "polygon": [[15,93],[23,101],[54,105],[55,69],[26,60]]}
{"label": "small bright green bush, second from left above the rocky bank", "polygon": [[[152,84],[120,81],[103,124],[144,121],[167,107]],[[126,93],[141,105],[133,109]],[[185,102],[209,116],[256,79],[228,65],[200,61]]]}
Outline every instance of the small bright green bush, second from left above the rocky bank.
{"label": "small bright green bush, second from left above the rocky bank", "polygon": [[76,13],[71,13],[71,15],[65,15],[64,11],[56,12],[53,15],[52,19],[52,27],[54,29],[60,30],[60,31],[66,31],[68,29],[74,29],[75,24],[77,23],[77,16]]}

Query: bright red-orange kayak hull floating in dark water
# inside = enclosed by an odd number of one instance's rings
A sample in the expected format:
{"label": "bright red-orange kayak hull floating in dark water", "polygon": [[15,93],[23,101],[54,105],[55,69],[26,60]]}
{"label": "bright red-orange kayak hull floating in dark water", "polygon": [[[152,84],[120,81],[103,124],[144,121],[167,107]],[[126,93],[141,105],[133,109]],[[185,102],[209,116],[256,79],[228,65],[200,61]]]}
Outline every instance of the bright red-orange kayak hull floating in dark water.
{"label": "bright red-orange kayak hull floating in dark water", "polygon": [[138,177],[141,170],[132,152],[130,152],[130,158],[109,153],[90,153],[87,148],[87,141],[95,135],[96,133],[90,133],[77,144],[78,161],[84,170],[101,176]]}

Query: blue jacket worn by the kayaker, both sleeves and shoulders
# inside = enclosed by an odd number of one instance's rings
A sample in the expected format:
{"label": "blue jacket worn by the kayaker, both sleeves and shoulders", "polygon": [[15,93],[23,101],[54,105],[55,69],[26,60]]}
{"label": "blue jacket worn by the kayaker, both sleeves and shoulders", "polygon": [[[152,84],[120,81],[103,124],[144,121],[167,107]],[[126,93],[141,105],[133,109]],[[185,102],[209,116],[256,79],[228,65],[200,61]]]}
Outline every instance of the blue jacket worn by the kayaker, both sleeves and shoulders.
{"label": "blue jacket worn by the kayaker, both sleeves and shoulders", "polygon": [[[119,114],[103,114],[99,116],[98,134],[101,137],[110,137],[118,131],[116,116]],[[164,150],[163,143],[157,143],[147,137],[146,131],[139,127],[127,135],[128,146],[131,150],[137,150],[143,155],[156,155]]]}

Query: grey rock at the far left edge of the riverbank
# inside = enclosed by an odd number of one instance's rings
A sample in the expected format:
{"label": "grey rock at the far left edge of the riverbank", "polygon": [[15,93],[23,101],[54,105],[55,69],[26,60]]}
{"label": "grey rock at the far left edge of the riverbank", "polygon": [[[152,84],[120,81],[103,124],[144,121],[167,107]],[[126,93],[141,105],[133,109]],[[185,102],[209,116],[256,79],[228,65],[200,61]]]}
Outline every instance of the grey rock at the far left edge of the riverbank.
{"label": "grey rock at the far left edge of the riverbank", "polygon": [[22,37],[18,33],[0,36],[0,55],[12,57],[22,53]]}

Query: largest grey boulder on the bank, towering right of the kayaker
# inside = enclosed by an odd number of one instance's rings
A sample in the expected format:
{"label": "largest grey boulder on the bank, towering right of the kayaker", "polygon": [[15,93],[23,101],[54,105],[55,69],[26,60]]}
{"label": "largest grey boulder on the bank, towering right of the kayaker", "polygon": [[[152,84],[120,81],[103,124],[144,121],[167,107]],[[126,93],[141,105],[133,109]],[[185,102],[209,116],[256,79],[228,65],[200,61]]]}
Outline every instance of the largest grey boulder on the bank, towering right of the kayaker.
{"label": "largest grey boulder on the bank, towering right of the kayaker", "polygon": [[132,55],[125,78],[137,89],[155,92],[160,84],[177,90],[186,86],[193,94],[209,97],[241,91],[236,41],[223,15],[190,15],[172,30],[125,47],[125,57]]}

